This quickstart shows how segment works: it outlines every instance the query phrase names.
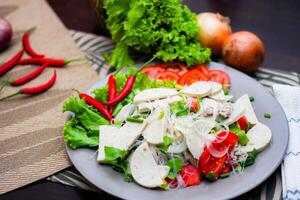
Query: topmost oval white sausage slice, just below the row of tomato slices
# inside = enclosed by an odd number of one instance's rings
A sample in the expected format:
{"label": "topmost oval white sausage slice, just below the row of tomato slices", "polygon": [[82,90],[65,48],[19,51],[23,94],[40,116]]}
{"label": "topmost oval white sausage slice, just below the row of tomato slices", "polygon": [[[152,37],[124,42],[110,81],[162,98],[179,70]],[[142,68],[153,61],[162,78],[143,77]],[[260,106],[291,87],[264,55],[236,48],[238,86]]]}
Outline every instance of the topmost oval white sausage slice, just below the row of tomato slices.
{"label": "topmost oval white sausage slice, just below the row of tomato slices", "polygon": [[197,81],[181,90],[181,93],[195,97],[205,97],[210,94],[211,83]]}

